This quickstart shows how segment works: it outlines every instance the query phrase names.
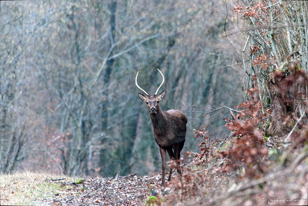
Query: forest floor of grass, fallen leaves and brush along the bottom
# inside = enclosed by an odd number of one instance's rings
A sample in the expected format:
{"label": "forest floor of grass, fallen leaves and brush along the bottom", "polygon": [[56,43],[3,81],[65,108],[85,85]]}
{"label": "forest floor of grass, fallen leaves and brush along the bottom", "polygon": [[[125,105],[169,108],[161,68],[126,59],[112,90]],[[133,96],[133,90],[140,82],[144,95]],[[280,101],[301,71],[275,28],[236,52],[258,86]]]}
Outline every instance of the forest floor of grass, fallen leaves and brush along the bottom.
{"label": "forest floor of grass, fallen leaves and brush along the bottom", "polygon": [[0,176],[0,200],[1,205],[307,205],[308,147],[276,157],[264,160],[267,170],[256,179],[241,176],[243,171],[222,172],[225,159],[206,165],[190,159],[181,180],[173,172],[165,187],[161,173],[55,180],[63,175],[15,172]]}

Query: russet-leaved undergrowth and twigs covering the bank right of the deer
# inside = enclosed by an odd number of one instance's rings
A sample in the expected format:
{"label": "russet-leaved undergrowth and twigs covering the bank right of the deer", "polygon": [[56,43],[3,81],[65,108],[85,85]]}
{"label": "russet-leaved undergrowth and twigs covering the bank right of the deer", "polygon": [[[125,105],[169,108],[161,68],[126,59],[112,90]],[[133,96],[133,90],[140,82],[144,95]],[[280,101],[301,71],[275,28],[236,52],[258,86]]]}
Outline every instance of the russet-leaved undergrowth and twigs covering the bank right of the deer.
{"label": "russet-leaved undergrowth and twigs covering the bank right of the deer", "polygon": [[[294,79],[293,75],[289,74],[286,81]],[[229,198],[237,202],[234,205],[241,205],[248,200],[253,205],[269,200],[266,205],[270,205],[270,194],[275,191],[289,199],[303,198],[301,204],[306,204],[307,188],[299,192],[293,187],[308,182],[308,162],[303,161],[308,157],[307,124],[305,121],[293,124],[298,129],[289,132],[288,141],[285,141],[288,134],[270,136],[266,131],[269,127],[268,116],[272,111],[271,107],[262,105],[257,81],[247,94],[249,101],[239,104],[239,112],[232,113],[231,119],[225,124],[231,132],[228,138],[211,138],[205,127],[194,130],[200,152],[185,152],[185,157],[194,155],[195,158],[182,168],[181,181],[176,178],[168,183],[167,186],[176,191],[166,198],[168,204],[220,205]],[[301,170],[303,168],[306,169]],[[279,180],[280,176],[285,179]],[[282,189],[284,185],[286,189]],[[278,203],[284,204],[286,202]]]}

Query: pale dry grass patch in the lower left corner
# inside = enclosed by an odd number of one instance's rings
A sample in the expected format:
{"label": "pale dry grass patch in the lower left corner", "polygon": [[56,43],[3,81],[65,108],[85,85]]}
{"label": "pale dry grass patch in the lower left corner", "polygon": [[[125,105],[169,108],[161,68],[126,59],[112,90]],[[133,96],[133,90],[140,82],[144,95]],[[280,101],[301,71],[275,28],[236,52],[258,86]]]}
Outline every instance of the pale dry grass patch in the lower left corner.
{"label": "pale dry grass patch in the lower left corner", "polygon": [[1,205],[37,205],[41,200],[52,199],[71,188],[53,183],[50,179],[49,175],[42,172],[11,172],[0,175]]}

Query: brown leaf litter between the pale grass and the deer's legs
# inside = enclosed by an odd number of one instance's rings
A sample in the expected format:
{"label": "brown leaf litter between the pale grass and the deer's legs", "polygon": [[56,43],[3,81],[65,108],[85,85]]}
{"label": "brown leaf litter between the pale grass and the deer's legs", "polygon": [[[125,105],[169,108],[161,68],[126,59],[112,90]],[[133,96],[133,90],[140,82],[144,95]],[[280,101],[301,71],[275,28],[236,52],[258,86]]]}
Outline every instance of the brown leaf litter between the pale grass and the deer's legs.
{"label": "brown leaf litter between the pale grass and the deer's legs", "polygon": [[43,202],[49,205],[144,205],[152,190],[163,193],[159,191],[161,175],[117,175],[111,178],[91,178],[79,184],[74,181],[62,181],[58,184],[71,185],[71,188],[59,192],[54,199],[45,199]]}

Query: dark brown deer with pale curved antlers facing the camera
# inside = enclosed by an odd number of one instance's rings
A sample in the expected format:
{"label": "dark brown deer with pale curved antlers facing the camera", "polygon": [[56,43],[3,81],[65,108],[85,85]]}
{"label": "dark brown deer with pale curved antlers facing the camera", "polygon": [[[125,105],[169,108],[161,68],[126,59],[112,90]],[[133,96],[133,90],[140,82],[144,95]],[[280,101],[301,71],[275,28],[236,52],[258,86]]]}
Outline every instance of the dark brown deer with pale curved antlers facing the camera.
{"label": "dark brown deer with pale curved antlers facing the camera", "polygon": [[[186,123],[187,117],[183,112],[179,110],[168,110],[162,112],[158,103],[160,100],[164,99],[166,91],[162,91],[159,95],[158,91],[164,83],[164,75],[159,69],[157,69],[160,74],[163,76],[163,81],[156,90],[156,93],[151,96],[148,95],[137,83],[138,73],[136,75],[136,86],[145,94],[138,93],[138,96],[141,101],[147,103],[150,119],[152,122],[152,130],[156,143],[159,146],[161,160],[162,160],[162,182],[161,186],[164,187],[165,184],[165,172],[166,172],[166,159],[167,153],[170,157],[170,160],[175,160],[177,167],[177,173],[181,176],[180,170],[180,151],[184,147],[185,136],[186,136]],[[171,174],[173,171],[173,166],[170,168],[168,181],[171,179]]]}

